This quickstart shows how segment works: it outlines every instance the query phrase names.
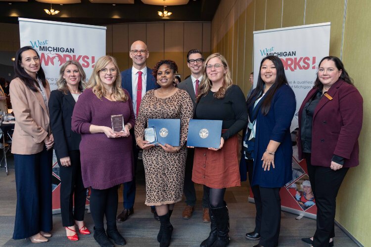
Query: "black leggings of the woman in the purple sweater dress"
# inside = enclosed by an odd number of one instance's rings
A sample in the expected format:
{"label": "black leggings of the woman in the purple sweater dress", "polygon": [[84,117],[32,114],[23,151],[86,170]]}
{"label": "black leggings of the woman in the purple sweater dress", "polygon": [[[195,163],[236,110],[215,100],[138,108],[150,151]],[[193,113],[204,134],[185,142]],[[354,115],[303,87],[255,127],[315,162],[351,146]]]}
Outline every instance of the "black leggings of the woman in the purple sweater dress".
{"label": "black leggings of the woman in the purple sweater dress", "polygon": [[104,215],[107,220],[107,229],[116,228],[117,204],[119,202],[117,194],[118,189],[118,185],[105,190],[92,188],[92,193],[90,195],[90,211],[96,229],[104,228]]}

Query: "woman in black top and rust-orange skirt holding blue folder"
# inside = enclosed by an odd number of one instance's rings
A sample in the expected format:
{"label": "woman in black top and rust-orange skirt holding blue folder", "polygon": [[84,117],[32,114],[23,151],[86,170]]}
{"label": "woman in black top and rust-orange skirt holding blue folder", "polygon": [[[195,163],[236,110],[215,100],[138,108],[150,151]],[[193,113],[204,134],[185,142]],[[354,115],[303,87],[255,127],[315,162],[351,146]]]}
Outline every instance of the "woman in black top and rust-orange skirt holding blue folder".
{"label": "woman in black top and rust-orange skirt holding blue folder", "polygon": [[237,133],[246,126],[248,117],[245,96],[232,84],[224,56],[210,55],[205,66],[194,118],[222,120],[222,137],[219,148],[195,148],[192,181],[203,184],[210,198],[211,232],[201,247],[222,247],[230,242],[224,194],[226,188],[240,186]]}

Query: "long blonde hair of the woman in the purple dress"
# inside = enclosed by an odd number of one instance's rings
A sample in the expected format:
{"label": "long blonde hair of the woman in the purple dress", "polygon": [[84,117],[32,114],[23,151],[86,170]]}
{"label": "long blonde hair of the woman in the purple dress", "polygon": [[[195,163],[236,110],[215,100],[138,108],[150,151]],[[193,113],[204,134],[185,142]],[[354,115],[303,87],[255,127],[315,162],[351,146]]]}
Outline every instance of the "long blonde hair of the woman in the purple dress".
{"label": "long blonde hair of the woman in the purple dress", "polygon": [[116,69],[116,80],[113,82],[112,86],[112,95],[116,101],[127,101],[128,100],[128,95],[125,94],[124,90],[121,88],[121,74],[119,67],[117,66],[116,59],[111,56],[103,56],[98,59],[98,61],[95,63],[93,74],[89,79],[88,82],[88,88],[93,89],[93,93],[101,99],[104,96],[110,95],[108,91],[105,89],[103,86],[102,82],[100,81],[99,78],[99,72],[101,69],[105,68],[107,64],[113,63]]}

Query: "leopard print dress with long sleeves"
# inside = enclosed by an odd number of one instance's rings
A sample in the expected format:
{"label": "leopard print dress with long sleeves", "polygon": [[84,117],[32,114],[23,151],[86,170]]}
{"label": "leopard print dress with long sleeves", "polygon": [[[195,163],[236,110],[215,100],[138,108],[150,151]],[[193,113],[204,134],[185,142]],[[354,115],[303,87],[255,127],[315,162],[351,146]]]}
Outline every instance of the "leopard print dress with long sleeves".
{"label": "leopard print dress with long sleeves", "polygon": [[160,146],[143,150],[147,206],[173,204],[182,200],[187,155],[185,140],[193,113],[192,100],[186,91],[178,89],[167,98],[156,97],[154,91],[147,91],[141,101],[135,136],[144,138],[148,119],[180,119],[182,148],[177,153],[166,152]]}

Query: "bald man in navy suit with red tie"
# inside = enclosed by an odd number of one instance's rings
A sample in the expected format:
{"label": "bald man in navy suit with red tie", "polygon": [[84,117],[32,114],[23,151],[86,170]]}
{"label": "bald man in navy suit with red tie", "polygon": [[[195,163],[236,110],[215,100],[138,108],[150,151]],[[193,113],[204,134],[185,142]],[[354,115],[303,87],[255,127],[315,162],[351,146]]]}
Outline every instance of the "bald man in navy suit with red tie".
{"label": "bald man in navy suit with red tie", "polygon": [[[146,59],[149,56],[147,45],[143,41],[135,41],[130,47],[130,58],[133,59],[133,67],[121,72],[122,88],[128,90],[133,100],[133,110],[137,118],[139,105],[146,91],[156,88],[156,80],[152,76],[152,70],[146,65]],[[133,138],[134,152],[134,175],[133,181],[124,183],[124,210],[117,216],[117,221],[125,221],[129,215],[134,213],[134,201],[136,193],[135,171],[137,168],[139,148],[136,147],[134,128],[130,130]],[[158,219],[156,210],[151,207],[155,219]]]}

